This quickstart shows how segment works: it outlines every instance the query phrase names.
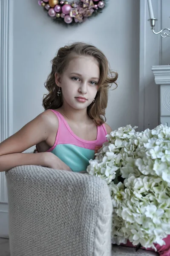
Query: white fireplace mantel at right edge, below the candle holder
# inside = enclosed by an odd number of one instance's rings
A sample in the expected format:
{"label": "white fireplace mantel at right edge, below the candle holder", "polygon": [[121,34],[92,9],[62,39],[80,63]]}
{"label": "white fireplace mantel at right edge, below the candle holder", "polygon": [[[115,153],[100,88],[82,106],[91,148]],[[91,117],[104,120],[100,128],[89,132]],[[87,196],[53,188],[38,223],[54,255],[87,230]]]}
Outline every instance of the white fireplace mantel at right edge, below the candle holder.
{"label": "white fireplace mantel at right edge, below the candle holder", "polygon": [[170,65],[152,66],[156,84],[160,85],[160,121],[170,126]]}

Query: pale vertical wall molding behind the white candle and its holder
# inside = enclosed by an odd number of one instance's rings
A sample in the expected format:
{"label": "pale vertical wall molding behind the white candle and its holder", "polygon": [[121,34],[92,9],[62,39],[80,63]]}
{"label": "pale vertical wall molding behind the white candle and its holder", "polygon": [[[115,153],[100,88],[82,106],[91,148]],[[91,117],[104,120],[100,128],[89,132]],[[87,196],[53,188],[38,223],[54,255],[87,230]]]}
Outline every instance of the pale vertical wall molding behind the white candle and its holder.
{"label": "pale vertical wall molding behind the white candle and its holder", "polygon": [[[162,23],[162,1],[154,0],[153,10],[158,21],[156,31]],[[155,84],[151,66],[161,64],[162,38],[154,35],[151,28],[147,0],[140,0],[140,58],[139,58],[139,111],[138,129],[154,128],[158,125],[158,87],[153,92]],[[152,94],[152,99],[149,96]]]}

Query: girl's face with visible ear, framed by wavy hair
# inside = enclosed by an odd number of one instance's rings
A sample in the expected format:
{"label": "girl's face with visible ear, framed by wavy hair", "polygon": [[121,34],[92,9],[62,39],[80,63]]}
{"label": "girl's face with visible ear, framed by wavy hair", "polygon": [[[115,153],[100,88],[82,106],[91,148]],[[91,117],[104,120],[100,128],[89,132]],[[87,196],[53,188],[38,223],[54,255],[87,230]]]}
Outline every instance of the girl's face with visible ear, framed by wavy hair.
{"label": "girl's face with visible ear, framed by wavy hair", "polygon": [[81,110],[87,108],[98,91],[100,70],[91,56],[76,56],[60,76],[55,74],[56,84],[62,88],[63,104]]}

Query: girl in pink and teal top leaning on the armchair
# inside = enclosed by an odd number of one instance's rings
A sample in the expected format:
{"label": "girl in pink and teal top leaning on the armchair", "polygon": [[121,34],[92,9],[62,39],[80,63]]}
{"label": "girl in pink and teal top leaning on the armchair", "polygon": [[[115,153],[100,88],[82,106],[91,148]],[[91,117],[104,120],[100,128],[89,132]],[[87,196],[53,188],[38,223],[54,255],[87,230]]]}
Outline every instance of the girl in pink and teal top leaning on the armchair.
{"label": "girl in pink and teal top leaning on the armchair", "polygon": [[[45,111],[0,143],[0,172],[22,165],[86,171],[112,131],[105,109],[117,78],[96,47],[77,42],[60,48],[45,82]],[[22,153],[33,145],[37,154]]]}

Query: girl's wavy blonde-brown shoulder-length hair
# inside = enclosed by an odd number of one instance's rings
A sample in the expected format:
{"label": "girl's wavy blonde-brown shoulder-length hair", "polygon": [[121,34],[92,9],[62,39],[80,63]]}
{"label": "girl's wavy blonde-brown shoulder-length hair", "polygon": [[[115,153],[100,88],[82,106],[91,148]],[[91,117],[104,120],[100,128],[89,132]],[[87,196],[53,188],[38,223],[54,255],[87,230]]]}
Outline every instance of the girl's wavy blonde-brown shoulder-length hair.
{"label": "girl's wavy blonde-brown shoulder-length hair", "polygon": [[63,97],[57,96],[59,87],[55,83],[55,73],[62,74],[72,59],[73,55],[78,56],[92,56],[98,61],[100,69],[100,79],[98,81],[98,92],[95,96],[95,104],[92,102],[87,107],[87,114],[94,119],[96,125],[102,125],[106,122],[105,110],[108,102],[108,90],[114,83],[117,88],[116,80],[118,73],[111,71],[109,62],[101,50],[93,45],[76,42],[74,44],[66,45],[58,50],[57,55],[52,63],[52,70],[44,85],[48,90],[47,94],[43,96],[43,107],[47,109],[57,109],[63,105]]}

